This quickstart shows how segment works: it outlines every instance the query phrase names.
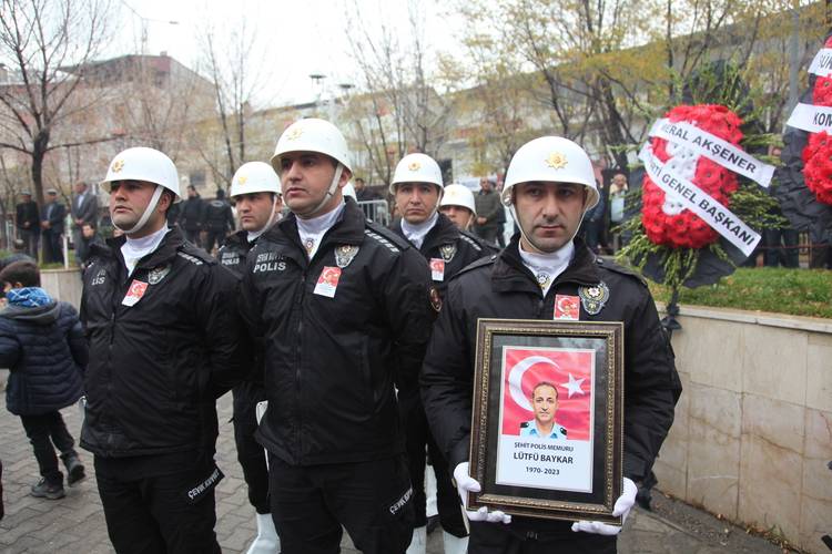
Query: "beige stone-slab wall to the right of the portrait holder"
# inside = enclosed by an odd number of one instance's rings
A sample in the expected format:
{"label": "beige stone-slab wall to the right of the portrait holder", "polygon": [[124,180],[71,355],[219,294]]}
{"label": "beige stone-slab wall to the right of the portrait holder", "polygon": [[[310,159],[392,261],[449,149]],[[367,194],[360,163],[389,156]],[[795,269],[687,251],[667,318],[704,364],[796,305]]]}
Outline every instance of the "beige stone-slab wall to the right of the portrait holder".
{"label": "beige stone-slab wall to the right of the portrait holder", "polygon": [[682,307],[659,489],[808,552],[832,534],[832,320]]}

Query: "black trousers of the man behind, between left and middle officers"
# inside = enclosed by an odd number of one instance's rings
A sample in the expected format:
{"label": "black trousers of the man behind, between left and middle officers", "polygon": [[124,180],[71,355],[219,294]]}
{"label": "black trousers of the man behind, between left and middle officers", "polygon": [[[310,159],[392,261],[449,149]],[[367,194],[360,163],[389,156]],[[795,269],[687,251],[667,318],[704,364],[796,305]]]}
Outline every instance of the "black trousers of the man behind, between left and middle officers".
{"label": "black trousers of the man behind, between left and middle officers", "polygon": [[258,514],[271,512],[268,505],[268,469],[265,450],[254,440],[257,430],[256,406],[266,399],[258,383],[243,382],[232,390],[234,397],[234,442],[243,479],[248,488],[248,502]]}

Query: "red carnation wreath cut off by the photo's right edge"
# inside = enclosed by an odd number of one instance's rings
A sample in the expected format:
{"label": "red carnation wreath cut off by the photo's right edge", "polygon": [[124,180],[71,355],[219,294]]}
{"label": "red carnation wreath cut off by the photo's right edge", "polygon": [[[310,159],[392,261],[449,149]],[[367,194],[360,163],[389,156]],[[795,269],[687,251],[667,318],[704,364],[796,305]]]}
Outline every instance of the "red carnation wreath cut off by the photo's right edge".
{"label": "red carnation wreath cut off by the photo's right edge", "polygon": [[[832,47],[832,38],[826,40],[826,48]],[[820,76],[814,80],[812,89],[814,105],[832,106],[832,76]],[[832,205],[832,136],[825,131],[810,133],[803,148],[803,179],[818,198],[818,202]]]}

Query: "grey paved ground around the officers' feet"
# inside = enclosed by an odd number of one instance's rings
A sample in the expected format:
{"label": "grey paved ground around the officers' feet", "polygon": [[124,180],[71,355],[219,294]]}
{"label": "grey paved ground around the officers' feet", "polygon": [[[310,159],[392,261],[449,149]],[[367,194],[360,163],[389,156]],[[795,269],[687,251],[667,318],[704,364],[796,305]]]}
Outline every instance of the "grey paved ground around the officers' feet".
{"label": "grey paved ground around the officers' feet", "polygon": [[[0,390],[4,372],[0,371]],[[216,533],[223,552],[245,552],[255,534],[254,511],[248,505],[245,483],[234,455],[232,425],[229,423],[231,398],[220,401],[221,430],[217,461],[225,473],[216,494]],[[63,411],[73,437],[78,438],[80,416],[75,409]],[[91,456],[82,451],[88,468]],[[38,466],[20,420],[0,410],[0,459],[3,462],[6,517],[0,521],[0,552],[17,553],[110,553],[112,546],[98,496],[94,476],[68,489],[60,501],[34,499],[29,486],[34,483]],[[344,552],[356,553],[348,538]],[[429,537],[428,552],[442,552],[442,533]],[[778,553],[777,546],[743,530],[679,502],[658,495],[655,512],[635,511],[619,538],[619,552],[691,553],[724,552]]]}

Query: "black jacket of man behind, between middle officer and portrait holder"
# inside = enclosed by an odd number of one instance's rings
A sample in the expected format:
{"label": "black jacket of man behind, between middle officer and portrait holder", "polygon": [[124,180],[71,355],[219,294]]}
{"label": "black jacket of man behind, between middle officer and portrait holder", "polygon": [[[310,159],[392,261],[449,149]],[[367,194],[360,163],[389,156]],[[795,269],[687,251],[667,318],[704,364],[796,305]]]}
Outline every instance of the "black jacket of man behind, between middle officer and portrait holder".
{"label": "black jacket of man behind, between middle officer and portrait holder", "polygon": [[[394,224],[393,232],[407,240],[402,230],[400,219]],[[445,214],[439,214],[436,224],[425,236],[422,248],[419,248],[419,254],[428,263],[432,259],[440,259],[444,263],[442,279],[434,279],[434,287],[436,287],[442,296],[445,296],[445,290],[448,288],[448,280],[465,266],[496,253],[497,249],[481,238],[459,230]]]}

